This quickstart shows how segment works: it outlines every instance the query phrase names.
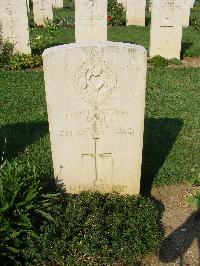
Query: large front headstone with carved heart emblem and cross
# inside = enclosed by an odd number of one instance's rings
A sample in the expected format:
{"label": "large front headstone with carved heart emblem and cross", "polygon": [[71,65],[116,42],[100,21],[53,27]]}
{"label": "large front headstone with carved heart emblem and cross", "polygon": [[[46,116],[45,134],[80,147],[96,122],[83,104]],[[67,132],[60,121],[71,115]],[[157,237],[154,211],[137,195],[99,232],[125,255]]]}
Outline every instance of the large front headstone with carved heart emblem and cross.
{"label": "large front headstone with carved heart emblem and cross", "polygon": [[55,177],[67,192],[138,194],[146,50],[112,42],[43,54]]}

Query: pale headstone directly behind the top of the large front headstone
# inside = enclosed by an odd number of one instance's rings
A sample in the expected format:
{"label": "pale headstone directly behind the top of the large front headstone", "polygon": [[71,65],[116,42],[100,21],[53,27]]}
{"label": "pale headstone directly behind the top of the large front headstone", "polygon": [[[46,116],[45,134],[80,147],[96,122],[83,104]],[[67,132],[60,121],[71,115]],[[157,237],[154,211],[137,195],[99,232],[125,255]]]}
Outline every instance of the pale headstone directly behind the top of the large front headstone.
{"label": "pale headstone directly behind the top of the large front headstone", "polygon": [[107,40],[107,0],[75,0],[76,42]]}

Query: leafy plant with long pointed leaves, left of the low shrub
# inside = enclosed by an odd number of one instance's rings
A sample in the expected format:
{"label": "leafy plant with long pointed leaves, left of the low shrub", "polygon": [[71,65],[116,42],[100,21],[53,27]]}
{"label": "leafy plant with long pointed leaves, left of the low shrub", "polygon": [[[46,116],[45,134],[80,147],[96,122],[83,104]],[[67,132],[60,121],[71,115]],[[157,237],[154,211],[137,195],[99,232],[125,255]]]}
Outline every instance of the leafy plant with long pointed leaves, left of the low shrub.
{"label": "leafy plant with long pointed leaves, left of the low shrub", "polygon": [[20,257],[27,237],[36,235],[43,220],[54,221],[50,212],[57,196],[42,193],[34,167],[4,162],[0,168],[1,263]]}

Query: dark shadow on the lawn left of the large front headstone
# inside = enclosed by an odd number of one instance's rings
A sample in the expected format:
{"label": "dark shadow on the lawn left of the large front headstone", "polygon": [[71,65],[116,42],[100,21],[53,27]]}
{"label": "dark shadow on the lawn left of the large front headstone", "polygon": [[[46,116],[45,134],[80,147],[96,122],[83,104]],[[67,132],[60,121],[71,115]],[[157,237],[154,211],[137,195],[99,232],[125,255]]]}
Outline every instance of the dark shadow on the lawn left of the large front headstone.
{"label": "dark shadow on the lawn left of the large front headstone", "polygon": [[9,124],[0,128],[0,158],[3,156],[4,160],[14,159],[47,133],[47,122]]}

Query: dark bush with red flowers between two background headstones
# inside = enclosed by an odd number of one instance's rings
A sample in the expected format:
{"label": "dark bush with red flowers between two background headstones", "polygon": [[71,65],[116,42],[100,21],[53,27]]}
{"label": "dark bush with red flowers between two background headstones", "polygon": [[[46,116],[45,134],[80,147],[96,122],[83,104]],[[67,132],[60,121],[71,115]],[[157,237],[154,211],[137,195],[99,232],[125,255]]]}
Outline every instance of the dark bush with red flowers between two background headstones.
{"label": "dark bush with red flowers between two background headstones", "polygon": [[124,26],[126,25],[125,10],[117,0],[108,1],[108,25]]}

